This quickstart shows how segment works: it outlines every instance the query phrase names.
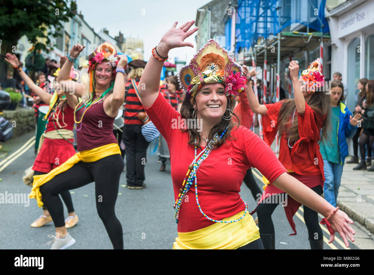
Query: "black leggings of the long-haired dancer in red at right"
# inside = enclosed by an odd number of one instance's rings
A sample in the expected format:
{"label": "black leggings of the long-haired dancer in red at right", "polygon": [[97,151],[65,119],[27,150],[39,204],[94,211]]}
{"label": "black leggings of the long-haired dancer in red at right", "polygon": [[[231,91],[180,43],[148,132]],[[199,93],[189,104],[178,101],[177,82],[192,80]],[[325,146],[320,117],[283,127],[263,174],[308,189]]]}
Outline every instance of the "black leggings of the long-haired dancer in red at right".
{"label": "black leggings of the long-haired dancer in red at right", "polygon": [[[323,193],[321,185],[311,188],[318,195]],[[273,195],[275,196],[275,195]],[[287,196],[287,194],[286,194]],[[287,198],[286,198],[287,199]],[[274,234],[274,225],[272,221],[272,214],[275,208],[278,206],[277,203],[260,203],[257,206],[258,216],[258,227],[260,228],[260,234]],[[310,240],[322,240],[322,229],[318,222],[318,213],[309,207],[304,206],[304,220],[308,229],[308,235]],[[315,239],[315,233],[318,234],[318,239]]]}

